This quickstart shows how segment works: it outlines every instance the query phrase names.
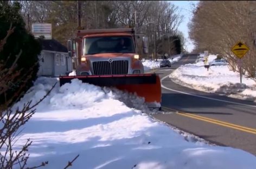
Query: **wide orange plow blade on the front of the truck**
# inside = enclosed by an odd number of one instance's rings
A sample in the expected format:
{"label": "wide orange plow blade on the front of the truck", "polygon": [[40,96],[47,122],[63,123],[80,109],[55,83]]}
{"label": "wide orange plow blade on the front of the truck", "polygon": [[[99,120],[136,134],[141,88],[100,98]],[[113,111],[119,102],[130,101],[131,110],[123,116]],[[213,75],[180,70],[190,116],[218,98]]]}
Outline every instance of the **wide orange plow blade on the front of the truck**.
{"label": "wide orange plow blade on the front of the truck", "polygon": [[72,79],[79,79],[83,83],[95,86],[116,87],[129,93],[136,93],[149,103],[161,103],[161,82],[156,74],[60,76],[59,78],[60,86],[71,83]]}

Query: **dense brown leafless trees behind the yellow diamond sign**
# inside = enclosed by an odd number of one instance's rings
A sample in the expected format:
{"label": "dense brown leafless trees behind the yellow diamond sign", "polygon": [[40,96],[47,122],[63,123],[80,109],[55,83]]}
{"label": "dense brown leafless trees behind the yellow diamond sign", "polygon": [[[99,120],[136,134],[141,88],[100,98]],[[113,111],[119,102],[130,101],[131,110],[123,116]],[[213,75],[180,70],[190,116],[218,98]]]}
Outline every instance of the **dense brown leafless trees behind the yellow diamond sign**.
{"label": "dense brown leafless trees behind the yellow diamond sign", "polygon": [[245,75],[255,80],[255,10],[253,1],[201,1],[190,23],[190,38],[197,48],[225,56],[233,71],[238,71],[238,58],[231,48],[236,42],[243,41],[250,48],[242,59],[243,69]]}

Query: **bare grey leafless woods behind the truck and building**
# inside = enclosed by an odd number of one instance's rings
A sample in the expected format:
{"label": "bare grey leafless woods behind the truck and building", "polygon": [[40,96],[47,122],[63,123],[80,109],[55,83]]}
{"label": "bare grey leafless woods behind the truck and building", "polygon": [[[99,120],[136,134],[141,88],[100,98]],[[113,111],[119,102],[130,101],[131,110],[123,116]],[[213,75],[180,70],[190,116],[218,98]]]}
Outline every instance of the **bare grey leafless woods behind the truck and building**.
{"label": "bare grey leafless woods behind the truck and building", "polygon": [[[30,20],[49,21],[53,25],[53,37],[62,44],[66,45],[69,38],[75,37],[78,28],[76,1],[21,3],[25,20],[29,14]],[[138,34],[148,35],[150,53],[155,51],[154,42],[163,34],[169,37],[177,34],[182,19],[180,9],[165,1],[81,1],[84,29],[135,27]]]}

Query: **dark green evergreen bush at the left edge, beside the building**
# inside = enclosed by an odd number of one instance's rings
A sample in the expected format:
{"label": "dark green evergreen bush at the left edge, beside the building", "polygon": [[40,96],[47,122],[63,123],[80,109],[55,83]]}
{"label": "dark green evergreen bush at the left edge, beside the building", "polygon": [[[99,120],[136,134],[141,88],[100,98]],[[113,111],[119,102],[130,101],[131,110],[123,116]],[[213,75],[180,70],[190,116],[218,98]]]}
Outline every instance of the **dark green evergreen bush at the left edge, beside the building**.
{"label": "dark green evergreen bush at the left edge, beside the building", "polygon": [[[7,35],[10,25],[15,27],[3,50],[0,51],[0,60],[5,62],[5,68],[10,68],[16,59],[16,55],[22,50],[22,54],[17,60],[16,69],[21,71],[21,76],[27,76],[25,81],[16,81],[12,88],[8,90],[6,93],[7,99],[17,93],[23,82],[25,82],[25,86],[22,88],[23,93],[33,86],[39,70],[38,55],[42,50],[39,41],[35,40],[34,36],[25,29],[25,22],[20,15],[20,10],[21,5],[18,2],[10,5],[7,1],[0,1],[0,40],[3,40]],[[0,102],[3,103],[3,96],[0,99]]]}

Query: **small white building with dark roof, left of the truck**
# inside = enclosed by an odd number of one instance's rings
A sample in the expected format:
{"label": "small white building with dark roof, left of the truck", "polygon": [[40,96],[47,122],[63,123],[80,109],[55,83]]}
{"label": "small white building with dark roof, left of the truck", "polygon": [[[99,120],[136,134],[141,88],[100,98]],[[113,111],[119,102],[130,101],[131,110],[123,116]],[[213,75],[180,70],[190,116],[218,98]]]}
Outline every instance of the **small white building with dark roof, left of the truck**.
{"label": "small white building with dark roof, left of the truck", "polygon": [[60,42],[39,39],[42,45],[39,56],[40,68],[38,76],[59,76],[72,72],[72,58],[68,56],[68,50]]}

